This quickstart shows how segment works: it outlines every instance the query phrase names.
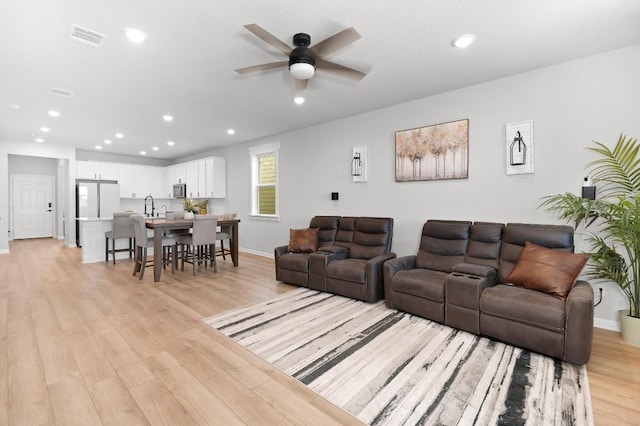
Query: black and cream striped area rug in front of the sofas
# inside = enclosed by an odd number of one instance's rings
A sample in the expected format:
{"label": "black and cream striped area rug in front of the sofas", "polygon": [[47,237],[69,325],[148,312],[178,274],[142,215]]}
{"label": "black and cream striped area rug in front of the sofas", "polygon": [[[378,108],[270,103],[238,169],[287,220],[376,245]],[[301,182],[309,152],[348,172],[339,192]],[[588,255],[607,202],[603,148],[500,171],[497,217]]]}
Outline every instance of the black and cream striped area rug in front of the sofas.
{"label": "black and cream striped area rug in front of the sofas", "polygon": [[367,424],[592,425],[586,368],[309,289],[203,320]]}

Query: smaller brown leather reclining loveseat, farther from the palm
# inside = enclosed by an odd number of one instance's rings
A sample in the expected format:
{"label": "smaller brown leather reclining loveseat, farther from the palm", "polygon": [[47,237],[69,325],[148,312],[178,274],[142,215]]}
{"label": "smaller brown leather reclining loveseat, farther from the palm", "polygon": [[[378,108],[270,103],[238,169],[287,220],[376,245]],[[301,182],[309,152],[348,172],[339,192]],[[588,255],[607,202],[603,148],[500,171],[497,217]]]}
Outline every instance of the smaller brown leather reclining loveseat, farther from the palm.
{"label": "smaller brown leather reclining loveseat, farther from the palm", "polygon": [[[310,227],[327,225],[328,238],[328,220],[316,218]],[[276,279],[366,302],[381,300],[382,265],[396,257],[391,253],[393,219],[339,217],[336,225],[333,240],[323,240],[315,253],[288,253],[287,246],[276,247]]]}

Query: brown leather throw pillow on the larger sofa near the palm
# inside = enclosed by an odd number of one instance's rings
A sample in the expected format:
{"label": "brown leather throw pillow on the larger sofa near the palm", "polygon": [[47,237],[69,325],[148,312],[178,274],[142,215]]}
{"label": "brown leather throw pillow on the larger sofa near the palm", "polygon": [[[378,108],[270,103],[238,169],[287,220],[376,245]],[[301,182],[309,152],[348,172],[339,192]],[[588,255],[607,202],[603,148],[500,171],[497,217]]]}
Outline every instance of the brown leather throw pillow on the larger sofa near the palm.
{"label": "brown leather throw pillow on the larger sofa near the palm", "polygon": [[552,250],[527,241],[506,281],[566,299],[587,260],[588,254]]}

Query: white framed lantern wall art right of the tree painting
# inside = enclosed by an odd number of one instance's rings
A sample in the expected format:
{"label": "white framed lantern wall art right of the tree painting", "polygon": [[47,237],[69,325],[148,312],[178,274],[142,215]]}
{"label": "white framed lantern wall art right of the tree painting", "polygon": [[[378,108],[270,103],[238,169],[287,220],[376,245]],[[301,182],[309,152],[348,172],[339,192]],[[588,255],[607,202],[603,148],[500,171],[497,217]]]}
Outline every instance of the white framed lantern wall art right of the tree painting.
{"label": "white framed lantern wall art right of the tree painting", "polygon": [[505,138],[507,174],[533,173],[533,121],[506,124]]}

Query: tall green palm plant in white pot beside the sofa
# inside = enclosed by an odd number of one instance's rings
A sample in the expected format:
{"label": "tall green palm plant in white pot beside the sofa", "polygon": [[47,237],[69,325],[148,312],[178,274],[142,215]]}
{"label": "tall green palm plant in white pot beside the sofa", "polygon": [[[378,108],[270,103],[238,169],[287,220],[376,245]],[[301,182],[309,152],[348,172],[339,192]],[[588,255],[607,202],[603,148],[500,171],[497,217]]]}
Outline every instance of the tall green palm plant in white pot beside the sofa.
{"label": "tall green palm plant in white pot beside the sofa", "polygon": [[640,145],[624,134],[613,149],[594,143],[587,149],[598,157],[587,169],[597,199],[564,193],[545,197],[542,206],[584,225],[592,250],[586,275],[615,282],[627,296],[629,309],[619,311],[622,337],[640,346]]}

